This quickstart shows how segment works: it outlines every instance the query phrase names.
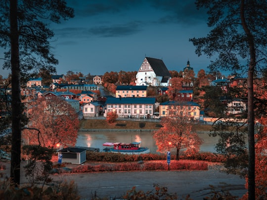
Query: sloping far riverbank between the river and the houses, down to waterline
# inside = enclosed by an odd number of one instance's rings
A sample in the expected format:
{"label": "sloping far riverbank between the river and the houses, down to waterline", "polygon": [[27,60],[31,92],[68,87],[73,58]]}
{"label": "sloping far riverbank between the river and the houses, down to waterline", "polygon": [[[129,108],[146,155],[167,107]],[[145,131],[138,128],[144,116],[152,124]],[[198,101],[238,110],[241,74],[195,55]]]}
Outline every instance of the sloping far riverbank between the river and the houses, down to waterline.
{"label": "sloping far riverbank between the river and the houses, down to waterline", "polygon": [[[210,131],[212,125],[195,124],[193,123],[193,130],[197,132]],[[121,120],[117,119],[114,123],[108,123],[107,120],[80,120],[80,131],[144,131],[149,132],[158,130],[161,127],[160,121],[148,120]]]}

